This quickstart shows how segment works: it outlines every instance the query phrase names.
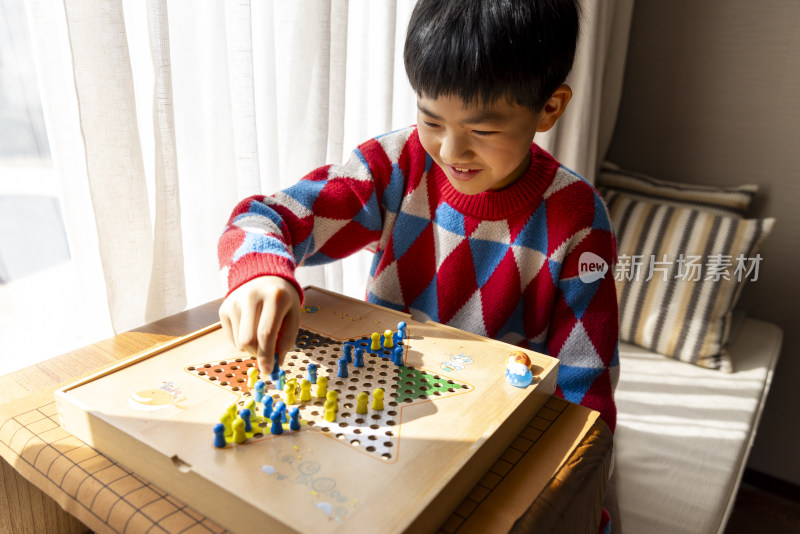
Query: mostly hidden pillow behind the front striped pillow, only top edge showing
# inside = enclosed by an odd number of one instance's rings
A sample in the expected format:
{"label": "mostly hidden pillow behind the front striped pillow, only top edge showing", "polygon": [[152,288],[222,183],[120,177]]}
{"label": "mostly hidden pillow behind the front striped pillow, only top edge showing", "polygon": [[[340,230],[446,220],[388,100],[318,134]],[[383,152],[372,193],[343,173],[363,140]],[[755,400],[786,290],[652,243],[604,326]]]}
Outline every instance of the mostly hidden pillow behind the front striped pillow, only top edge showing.
{"label": "mostly hidden pillow behind the front striped pillow, only top edge showing", "polygon": [[606,196],[607,191],[613,190],[648,202],[688,206],[717,215],[744,217],[750,202],[758,192],[758,185],[716,187],[667,182],[646,174],[621,169],[614,163],[606,161],[597,177],[597,189],[603,196]]}

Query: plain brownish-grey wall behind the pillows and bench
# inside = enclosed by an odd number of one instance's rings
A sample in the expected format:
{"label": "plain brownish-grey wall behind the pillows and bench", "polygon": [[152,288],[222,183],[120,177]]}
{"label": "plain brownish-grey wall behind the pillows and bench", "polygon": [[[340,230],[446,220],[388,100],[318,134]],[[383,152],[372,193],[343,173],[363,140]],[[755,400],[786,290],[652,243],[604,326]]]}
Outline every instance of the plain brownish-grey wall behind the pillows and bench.
{"label": "plain brownish-grey wall behind the pillows and bench", "polygon": [[740,307],[784,345],[748,466],[800,485],[800,2],[637,0],[608,159],[665,179],[760,184],[777,225]]}

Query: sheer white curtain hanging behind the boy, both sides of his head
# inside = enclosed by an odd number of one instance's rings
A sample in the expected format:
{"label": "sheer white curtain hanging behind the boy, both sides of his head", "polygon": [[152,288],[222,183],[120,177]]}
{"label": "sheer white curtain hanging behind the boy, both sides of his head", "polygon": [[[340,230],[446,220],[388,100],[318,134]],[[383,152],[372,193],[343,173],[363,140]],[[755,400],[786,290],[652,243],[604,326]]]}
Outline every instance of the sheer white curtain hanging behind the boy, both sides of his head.
{"label": "sheer white curtain hanging behind the boy, both sides of his head", "polygon": [[[584,2],[575,97],[540,140],[589,178],[613,129],[632,1]],[[75,309],[110,335],[222,296],[216,242],[238,200],[414,123],[413,5],[27,0]],[[357,255],[300,277],[361,297],[368,268]]]}

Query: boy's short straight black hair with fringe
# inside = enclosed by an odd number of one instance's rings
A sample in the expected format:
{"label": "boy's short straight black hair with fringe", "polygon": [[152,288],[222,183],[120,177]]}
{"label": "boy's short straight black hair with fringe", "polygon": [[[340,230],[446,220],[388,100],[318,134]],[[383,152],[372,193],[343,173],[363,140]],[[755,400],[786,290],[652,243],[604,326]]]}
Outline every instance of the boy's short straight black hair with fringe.
{"label": "boy's short straight black hair with fringe", "polygon": [[575,58],[577,0],[419,0],[403,59],[417,95],[542,110]]}

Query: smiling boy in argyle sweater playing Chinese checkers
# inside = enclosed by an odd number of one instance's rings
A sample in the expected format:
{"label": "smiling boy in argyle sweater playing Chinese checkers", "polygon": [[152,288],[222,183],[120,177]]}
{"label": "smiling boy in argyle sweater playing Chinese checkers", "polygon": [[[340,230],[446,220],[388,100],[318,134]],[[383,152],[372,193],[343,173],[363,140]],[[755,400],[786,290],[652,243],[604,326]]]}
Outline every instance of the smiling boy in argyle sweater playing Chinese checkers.
{"label": "smiling boy in argyle sweater playing Chinese checkers", "polygon": [[[578,17],[572,0],[420,0],[404,52],[417,125],[235,208],[219,243],[220,318],[262,374],[294,343],[295,267],[372,245],[369,301],[558,357],[557,393],[613,431],[608,215],[586,181],[532,144],[572,95]],[[584,253],[607,274],[579,277]]]}

